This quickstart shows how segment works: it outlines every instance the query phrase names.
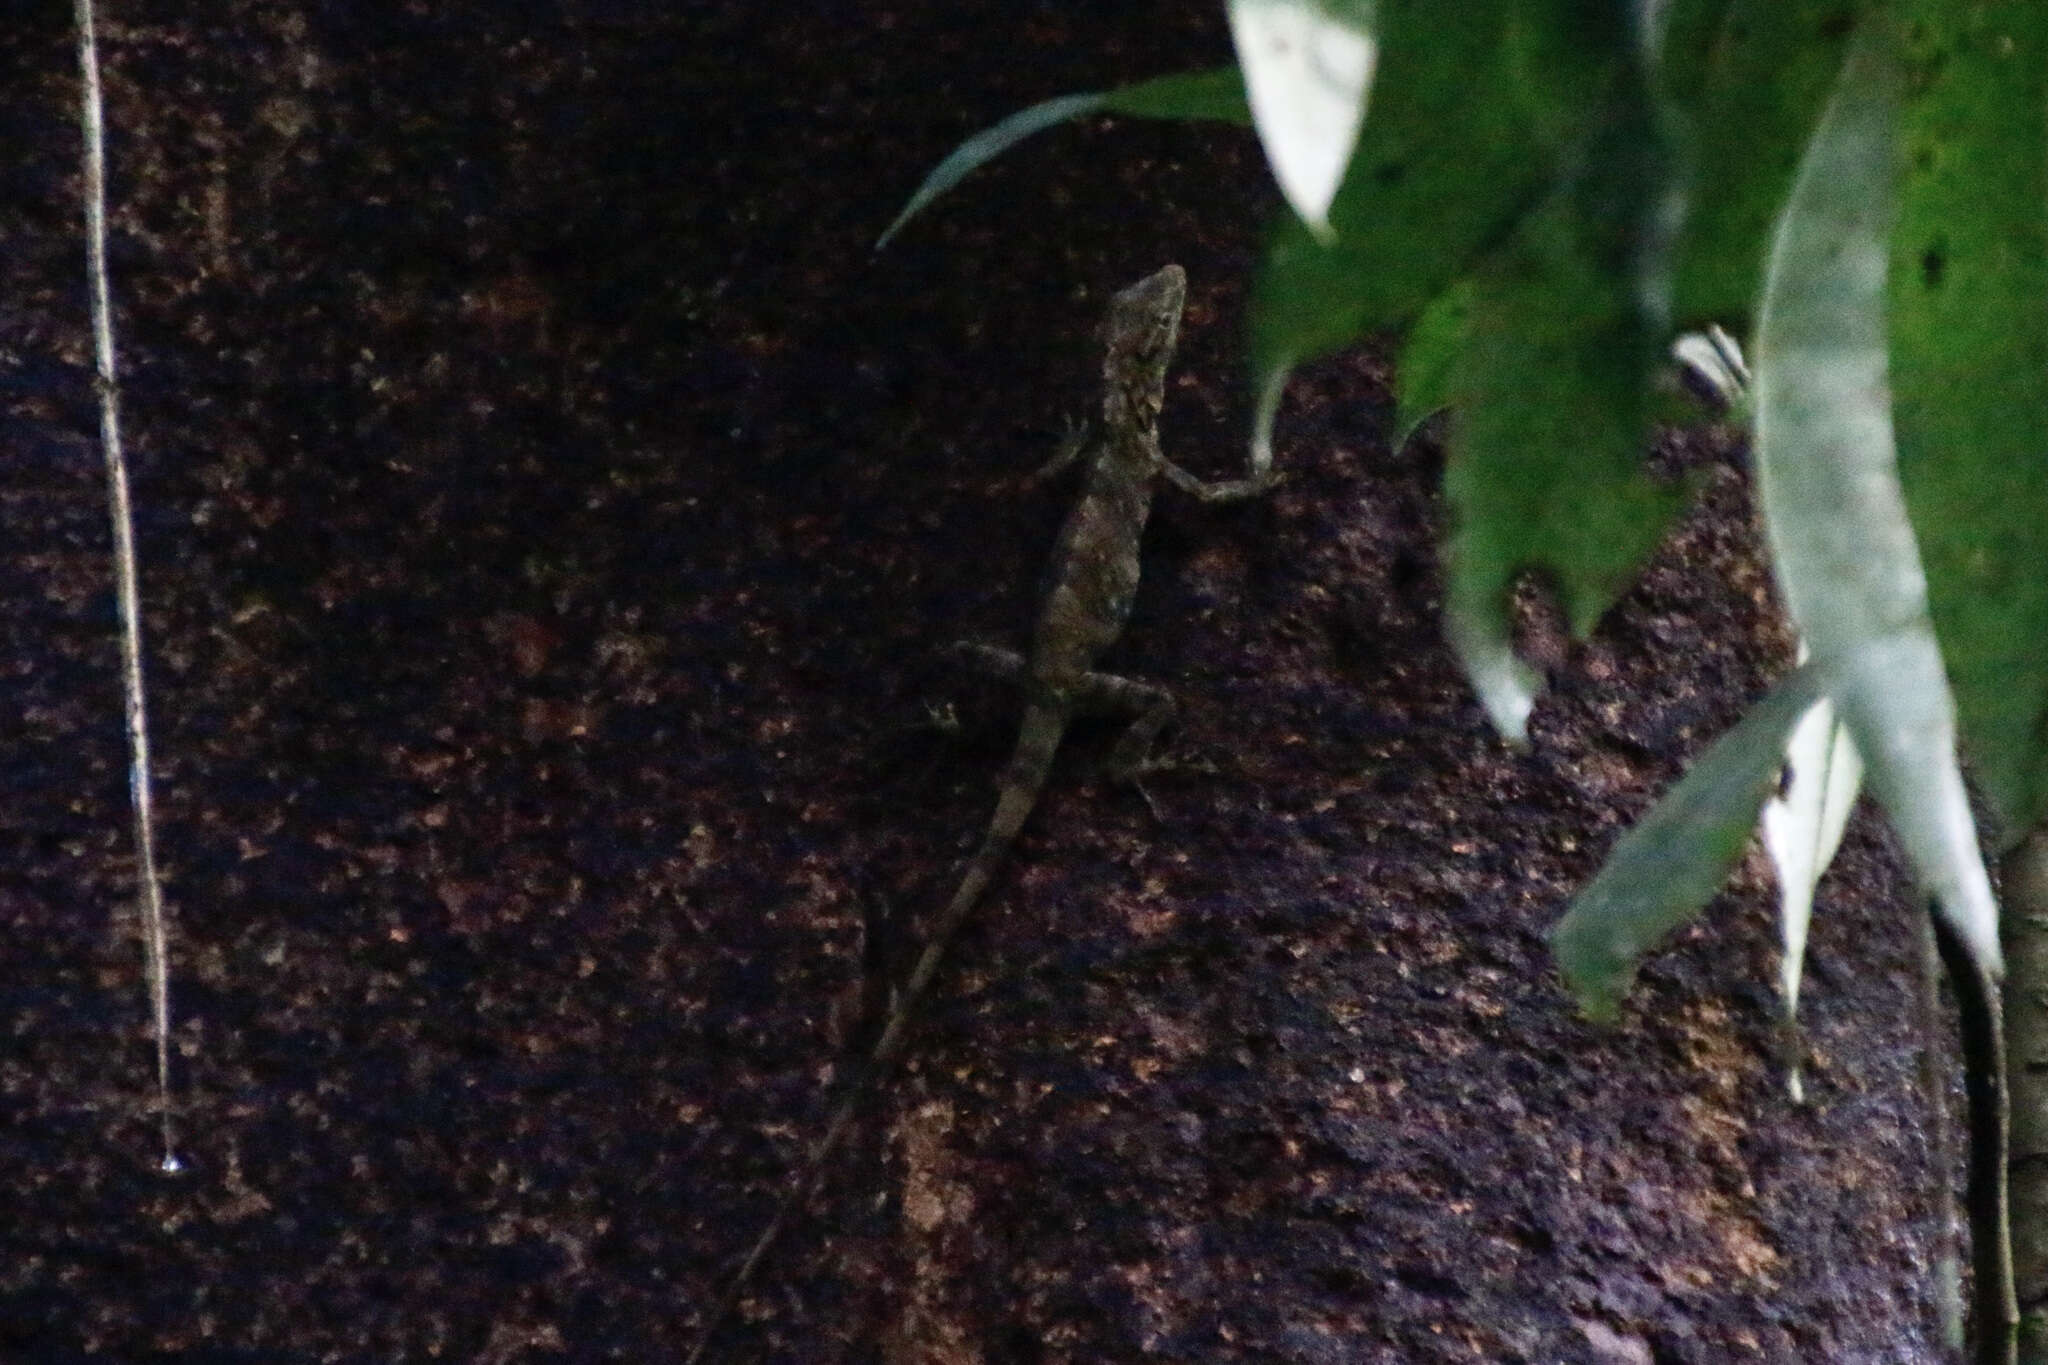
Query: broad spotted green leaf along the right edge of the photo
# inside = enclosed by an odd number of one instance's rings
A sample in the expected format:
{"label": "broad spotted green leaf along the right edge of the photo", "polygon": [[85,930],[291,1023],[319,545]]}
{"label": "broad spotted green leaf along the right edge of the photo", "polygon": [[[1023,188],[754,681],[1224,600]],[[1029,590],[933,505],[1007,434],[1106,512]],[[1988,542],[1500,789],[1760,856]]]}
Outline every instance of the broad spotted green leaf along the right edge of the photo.
{"label": "broad spotted green leaf along the right edge of the photo", "polygon": [[1892,420],[1964,747],[2048,814],[2048,6],[1903,6]]}

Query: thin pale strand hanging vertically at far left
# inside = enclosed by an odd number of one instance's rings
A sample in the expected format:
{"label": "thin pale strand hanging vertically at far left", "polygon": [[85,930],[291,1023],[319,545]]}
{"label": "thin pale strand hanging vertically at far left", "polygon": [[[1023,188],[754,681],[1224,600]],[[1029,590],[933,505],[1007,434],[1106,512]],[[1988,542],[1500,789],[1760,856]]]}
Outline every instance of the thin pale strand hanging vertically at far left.
{"label": "thin pale strand hanging vertically at far left", "polygon": [[106,289],[106,137],[100,115],[100,49],[92,0],[78,0],[78,65],[84,78],[86,141],[86,274],[92,287],[94,387],[100,393],[100,446],[106,452],[106,501],[115,524],[115,579],[121,606],[121,688],[129,741],[129,798],[135,808],[135,880],[141,909],[150,1013],[156,1025],[156,1103],[164,1138],[162,1171],[178,1171],[170,1124],[170,954],[164,933],[164,888],[156,876],[156,823],[150,800],[150,722],[141,686],[141,593],[135,587],[135,516],[129,505],[127,460],[121,456],[121,405],[115,387],[115,323]]}

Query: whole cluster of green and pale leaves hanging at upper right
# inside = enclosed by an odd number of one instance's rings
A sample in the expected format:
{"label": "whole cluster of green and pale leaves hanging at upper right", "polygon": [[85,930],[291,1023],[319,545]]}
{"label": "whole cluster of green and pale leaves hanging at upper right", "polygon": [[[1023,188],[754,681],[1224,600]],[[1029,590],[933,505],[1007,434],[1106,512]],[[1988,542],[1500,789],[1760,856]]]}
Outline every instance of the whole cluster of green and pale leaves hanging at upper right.
{"label": "whole cluster of green and pale leaves hanging at upper right", "polygon": [[1686,497],[1642,465],[1673,340],[1745,338],[1808,659],[1616,845],[1559,962],[1612,1013],[1724,882],[1790,751],[1767,812],[1788,999],[1866,772],[1995,974],[1956,747],[1960,722],[2003,841],[2048,814],[2048,6],[1231,0],[1231,23],[1237,68],[1024,111],[889,233],[1061,119],[1257,127],[1290,209],[1253,291],[1253,465],[1296,364],[1403,338],[1403,430],[1452,413],[1450,641],[1513,743],[1538,688],[1513,579],[1544,573],[1575,632],[1599,620]]}

